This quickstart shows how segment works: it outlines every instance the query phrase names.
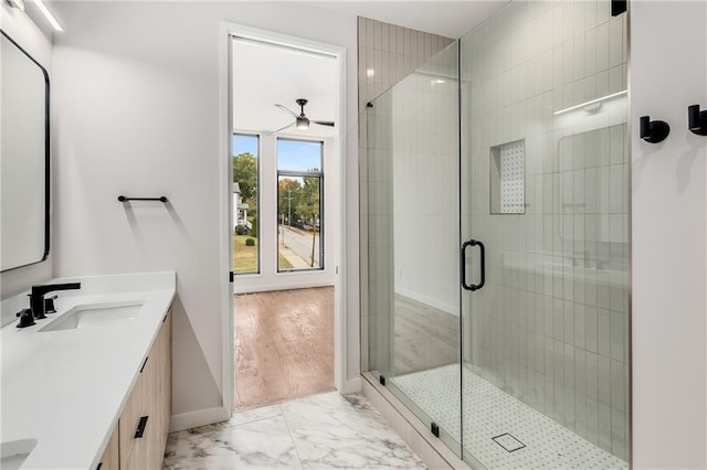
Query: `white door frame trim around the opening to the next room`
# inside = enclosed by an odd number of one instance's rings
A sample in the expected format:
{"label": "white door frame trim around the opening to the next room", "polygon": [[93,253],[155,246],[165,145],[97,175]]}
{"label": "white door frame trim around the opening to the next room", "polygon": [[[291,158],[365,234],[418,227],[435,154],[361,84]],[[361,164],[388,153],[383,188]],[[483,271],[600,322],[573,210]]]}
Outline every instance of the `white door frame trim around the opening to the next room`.
{"label": "white door frame trim around the opening to the next room", "polygon": [[235,334],[234,334],[234,316],[233,316],[233,288],[230,282],[230,273],[233,269],[233,241],[231,229],[233,227],[233,195],[232,180],[233,165],[230,163],[228,156],[232,154],[233,135],[233,116],[232,116],[232,49],[231,39],[242,38],[261,43],[294,47],[303,51],[309,51],[318,54],[329,55],[337,61],[339,93],[336,103],[335,119],[338,122],[337,133],[335,137],[335,149],[337,156],[336,173],[339,182],[337,190],[337,210],[338,210],[338,234],[335,241],[335,247],[331,249],[330,256],[335,258],[334,275],[334,386],[339,393],[345,392],[345,371],[347,364],[347,322],[344,312],[346,311],[346,139],[344,129],[346,129],[346,47],[327,44],[323,42],[312,41],[304,38],[281,34],[273,31],[261,30],[256,28],[245,26],[226,21],[221,22],[219,34],[220,42],[220,131],[219,131],[219,149],[223,156],[220,162],[220,253],[221,264],[219,276],[221,280],[221,318],[222,318],[222,387],[221,396],[223,407],[233,412],[234,396],[234,354],[235,354]]}

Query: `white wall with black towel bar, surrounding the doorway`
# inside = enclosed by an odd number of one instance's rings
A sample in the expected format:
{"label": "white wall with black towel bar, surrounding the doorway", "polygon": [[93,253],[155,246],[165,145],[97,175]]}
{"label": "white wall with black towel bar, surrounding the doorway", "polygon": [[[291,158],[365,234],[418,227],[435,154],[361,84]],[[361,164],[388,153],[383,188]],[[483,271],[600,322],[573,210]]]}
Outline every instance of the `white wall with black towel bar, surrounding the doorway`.
{"label": "white wall with black towel bar, surrounding the doorway", "polygon": [[[56,275],[177,270],[176,415],[222,405],[220,22],[349,50],[345,377],[357,377],[356,18],[289,2],[55,8],[65,26],[54,47]],[[165,194],[170,203],[129,209],[118,194]]]}

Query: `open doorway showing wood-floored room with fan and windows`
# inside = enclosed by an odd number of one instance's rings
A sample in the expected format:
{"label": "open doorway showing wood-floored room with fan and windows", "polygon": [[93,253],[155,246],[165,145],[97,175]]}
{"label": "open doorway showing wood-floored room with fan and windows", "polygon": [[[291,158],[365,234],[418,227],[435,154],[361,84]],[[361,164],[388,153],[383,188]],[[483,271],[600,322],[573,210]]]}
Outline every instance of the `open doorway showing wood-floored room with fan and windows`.
{"label": "open doorway showing wood-floored room with fan and windows", "polygon": [[224,402],[244,409],[341,389],[345,60],[337,46],[226,29]]}

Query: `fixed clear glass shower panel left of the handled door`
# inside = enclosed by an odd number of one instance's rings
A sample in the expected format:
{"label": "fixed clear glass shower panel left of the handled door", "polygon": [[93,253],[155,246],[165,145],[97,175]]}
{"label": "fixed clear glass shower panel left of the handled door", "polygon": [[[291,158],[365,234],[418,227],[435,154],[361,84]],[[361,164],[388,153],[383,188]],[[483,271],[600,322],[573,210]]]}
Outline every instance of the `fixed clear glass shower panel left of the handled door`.
{"label": "fixed clear glass shower panel left of the handled door", "polygon": [[461,449],[457,47],[374,99],[368,122],[369,362]]}

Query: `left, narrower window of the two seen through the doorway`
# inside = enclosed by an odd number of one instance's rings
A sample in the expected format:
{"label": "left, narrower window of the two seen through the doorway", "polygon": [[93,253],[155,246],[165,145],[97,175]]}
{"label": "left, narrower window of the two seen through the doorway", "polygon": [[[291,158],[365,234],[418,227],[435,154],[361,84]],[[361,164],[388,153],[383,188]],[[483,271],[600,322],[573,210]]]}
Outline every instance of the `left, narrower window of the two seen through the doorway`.
{"label": "left, narrower window of the two seen through the doorway", "polygon": [[233,273],[260,273],[257,136],[233,135]]}

